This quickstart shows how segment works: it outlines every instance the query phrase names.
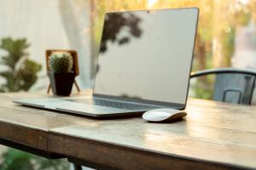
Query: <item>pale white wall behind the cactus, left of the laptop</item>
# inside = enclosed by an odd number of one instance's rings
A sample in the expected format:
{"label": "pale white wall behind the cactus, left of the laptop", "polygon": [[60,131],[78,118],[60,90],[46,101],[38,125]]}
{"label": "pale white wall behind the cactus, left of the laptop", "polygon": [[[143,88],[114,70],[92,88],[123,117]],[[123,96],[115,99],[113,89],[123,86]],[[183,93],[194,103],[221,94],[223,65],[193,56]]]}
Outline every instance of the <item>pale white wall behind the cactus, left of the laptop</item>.
{"label": "pale white wall behind the cactus, left of the laptop", "polygon": [[[68,4],[65,2],[73,3],[73,7],[66,7],[66,11],[73,11],[79,14],[79,11],[75,11],[76,8],[82,8],[84,11],[90,11],[85,5],[81,7],[79,0],[1,0],[0,1],[0,38],[13,37],[20,38],[26,37],[27,42],[31,43],[31,47],[28,48],[31,59],[38,61],[43,66],[43,70],[39,73],[40,80],[32,89],[45,88],[48,85],[48,78],[46,77],[45,70],[45,49],[48,48],[73,48],[76,49],[80,57],[80,84],[83,87],[88,86],[90,83],[90,41],[86,35],[81,35],[78,42],[72,38],[74,31],[81,31],[89,26],[88,13],[81,15],[74,15],[73,17],[79,17],[78,22],[84,19],[83,24],[74,25],[72,21],[74,18],[68,18],[61,12],[61,8],[64,8]],[[63,4],[62,4],[63,3]],[[81,10],[80,10],[81,11]],[[68,24],[79,28],[70,30],[67,29]],[[89,33],[89,32],[88,32]],[[85,47],[83,47],[84,42]],[[88,42],[88,43],[86,43]],[[86,47],[86,45],[88,47]],[[86,53],[85,53],[85,52]],[[0,56],[3,52],[0,52]],[[84,64],[82,64],[84,62]],[[88,64],[87,64],[88,63]],[[2,68],[3,69],[3,68]]]}

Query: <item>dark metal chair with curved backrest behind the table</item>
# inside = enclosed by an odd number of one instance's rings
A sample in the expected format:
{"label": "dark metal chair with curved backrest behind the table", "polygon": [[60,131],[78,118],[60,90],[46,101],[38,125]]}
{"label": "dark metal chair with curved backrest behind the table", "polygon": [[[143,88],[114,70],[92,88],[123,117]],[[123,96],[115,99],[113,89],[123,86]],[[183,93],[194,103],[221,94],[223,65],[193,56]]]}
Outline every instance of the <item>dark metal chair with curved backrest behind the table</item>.
{"label": "dark metal chair with curved backrest behind the table", "polygon": [[256,71],[236,68],[218,68],[192,72],[190,78],[216,75],[213,99],[228,103],[251,105]]}

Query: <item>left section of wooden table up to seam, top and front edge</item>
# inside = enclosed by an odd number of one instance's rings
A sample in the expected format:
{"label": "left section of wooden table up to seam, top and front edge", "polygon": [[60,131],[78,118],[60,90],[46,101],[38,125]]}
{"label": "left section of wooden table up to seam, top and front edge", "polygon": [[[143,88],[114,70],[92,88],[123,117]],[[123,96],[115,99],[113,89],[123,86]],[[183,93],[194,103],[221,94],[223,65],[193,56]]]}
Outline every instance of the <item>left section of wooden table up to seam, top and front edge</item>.
{"label": "left section of wooden table up to seam, top and front edge", "polygon": [[0,138],[47,151],[50,128],[83,123],[76,116],[24,107],[12,102],[15,98],[47,96],[41,93],[0,94]]}

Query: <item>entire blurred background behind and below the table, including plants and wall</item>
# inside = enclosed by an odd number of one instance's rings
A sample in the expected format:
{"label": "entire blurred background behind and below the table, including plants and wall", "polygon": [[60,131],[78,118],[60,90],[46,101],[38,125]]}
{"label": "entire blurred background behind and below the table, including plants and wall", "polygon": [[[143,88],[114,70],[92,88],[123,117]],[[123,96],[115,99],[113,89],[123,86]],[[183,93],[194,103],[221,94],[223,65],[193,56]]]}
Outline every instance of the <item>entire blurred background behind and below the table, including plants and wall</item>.
{"label": "entire blurred background behind and below the table, including plants and wall", "polygon": [[[106,11],[200,8],[193,71],[236,67],[256,70],[256,0],[1,0],[0,92],[45,90],[45,49],[79,53],[81,88],[96,70]],[[211,99],[214,77],[190,84],[189,95]],[[253,104],[256,103],[254,90]],[[66,160],[48,161],[0,147],[0,169],[68,169]],[[22,162],[22,163],[21,163]]]}

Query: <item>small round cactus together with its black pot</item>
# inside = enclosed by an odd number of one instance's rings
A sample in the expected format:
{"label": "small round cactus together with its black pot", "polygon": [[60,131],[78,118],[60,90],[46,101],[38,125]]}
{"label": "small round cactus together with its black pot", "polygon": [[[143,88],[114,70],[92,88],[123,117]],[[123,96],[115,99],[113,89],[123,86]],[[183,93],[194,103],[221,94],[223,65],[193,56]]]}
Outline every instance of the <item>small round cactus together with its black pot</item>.
{"label": "small round cactus together with its black pot", "polygon": [[67,96],[71,93],[74,78],[73,56],[65,51],[53,51],[49,55],[49,81],[53,94]]}

